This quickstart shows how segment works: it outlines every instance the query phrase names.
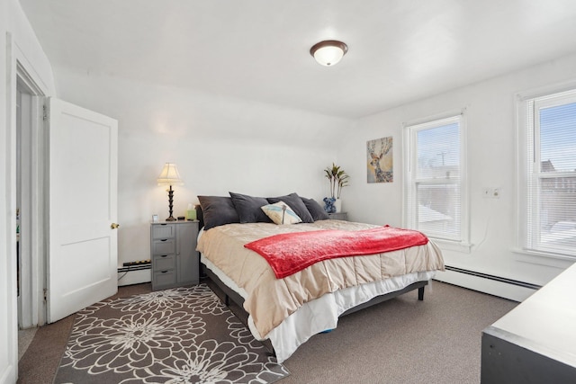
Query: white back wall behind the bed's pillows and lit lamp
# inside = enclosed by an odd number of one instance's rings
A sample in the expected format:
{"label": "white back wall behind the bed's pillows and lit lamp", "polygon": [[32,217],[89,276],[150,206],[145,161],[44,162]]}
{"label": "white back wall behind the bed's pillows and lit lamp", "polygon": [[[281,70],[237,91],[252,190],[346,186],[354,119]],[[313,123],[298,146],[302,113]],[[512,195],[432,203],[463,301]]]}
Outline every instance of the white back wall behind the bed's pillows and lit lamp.
{"label": "white back wall behind the bed's pillows and lit lamp", "polygon": [[[119,121],[119,263],[149,258],[149,221],[168,216],[156,178],[174,162],[174,216],[196,196],[298,192],[321,199],[322,170],[351,121],[266,103],[55,67],[58,96]],[[86,201],[90,204],[90,201]]]}

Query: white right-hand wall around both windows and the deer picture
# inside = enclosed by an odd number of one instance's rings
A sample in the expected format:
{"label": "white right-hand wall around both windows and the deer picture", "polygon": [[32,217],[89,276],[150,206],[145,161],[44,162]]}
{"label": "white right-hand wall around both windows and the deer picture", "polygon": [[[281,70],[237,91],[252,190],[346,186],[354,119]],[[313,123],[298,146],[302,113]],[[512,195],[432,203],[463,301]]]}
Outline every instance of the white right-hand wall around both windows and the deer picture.
{"label": "white right-hand wall around both windows and the deer picture", "polygon": [[[446,264],[543,285],[570,263],[515,252],[516,122],[515,94],[576,79],[576,55],[507,76],[468,85],[446,94],[402,105],[356,121],[338,151],[351,176],[343,193],[349,218],[402,225],[402,123],[467,108],[467,161],[470,178],[470,254],[444,250]],[[394,182],[366,183],[366,141],[392,136]],[[482,198],[483,187],[498,187],[500,199]],[[471,286],[484,290],[482,283]],[[502,293],[500,288],[493,294]]]}

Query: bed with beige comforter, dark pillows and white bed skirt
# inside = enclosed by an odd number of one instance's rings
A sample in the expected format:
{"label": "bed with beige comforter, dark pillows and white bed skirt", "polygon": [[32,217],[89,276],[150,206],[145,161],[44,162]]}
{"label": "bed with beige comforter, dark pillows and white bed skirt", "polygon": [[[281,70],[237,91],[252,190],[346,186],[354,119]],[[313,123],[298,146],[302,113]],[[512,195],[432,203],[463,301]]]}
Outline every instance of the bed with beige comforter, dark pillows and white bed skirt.
{"label": "bed with beige comforter, dark pillows and white bed skirt", "polygon": [[[428,281],[444,270],[438,247],[426,237],[422,241],[419,233],[414,234],[420,237],[415,246],[323,255],[311,238],[407,230],[328,219],[320,204],[296,193],[256,198],[230,192],[230,197],[199,196],[199,201],[197,249],[204,270],[227,295],[227,304],[233,299],[247,311],[251,333],[257,340],[269,340],[278,362],[312,335],[336,328],[338,317],[410,290],[419,290],[422,300]],[[284,243],[276,243],[281,240]],[[296,259],[303,261],[296,269],[287,263],[289,271],[258,247],[264,245],[266,251],[272,245],[276,252],[279,247],[291,254],[288,248],[299,242],[313,243],[312,250]],[[335,249],[340,246],[339,241],[332,243],[338,244]],[[373,249],[381,248],[370,247],[369,252]],[[309,260],[320,254],[320,261]],[[284,262],[284,254],[276,260]]]}

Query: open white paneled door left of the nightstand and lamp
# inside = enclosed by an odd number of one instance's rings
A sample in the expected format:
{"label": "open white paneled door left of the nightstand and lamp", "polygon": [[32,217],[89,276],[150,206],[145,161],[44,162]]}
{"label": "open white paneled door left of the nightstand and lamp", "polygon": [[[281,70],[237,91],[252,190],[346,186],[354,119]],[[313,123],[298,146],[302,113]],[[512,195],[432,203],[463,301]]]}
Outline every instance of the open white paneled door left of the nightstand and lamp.
{"label": "open white paneled door left of the nightstand and lamp", "polygon": [[118,290],[118,121],[49,98],[48,322]]}

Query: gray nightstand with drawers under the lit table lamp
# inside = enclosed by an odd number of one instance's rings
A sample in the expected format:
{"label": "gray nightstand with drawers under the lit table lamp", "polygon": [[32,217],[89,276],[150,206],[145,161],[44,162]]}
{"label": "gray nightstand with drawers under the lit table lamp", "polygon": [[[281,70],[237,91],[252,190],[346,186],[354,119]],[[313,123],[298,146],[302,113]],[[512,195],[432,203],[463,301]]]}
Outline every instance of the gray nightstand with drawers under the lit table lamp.
{"label": "gray nightstand with drawers under the lit table lamp", "polygon": [[161,221],[150,225],[152,290],[200,281],[196,251],[199,221]]}

